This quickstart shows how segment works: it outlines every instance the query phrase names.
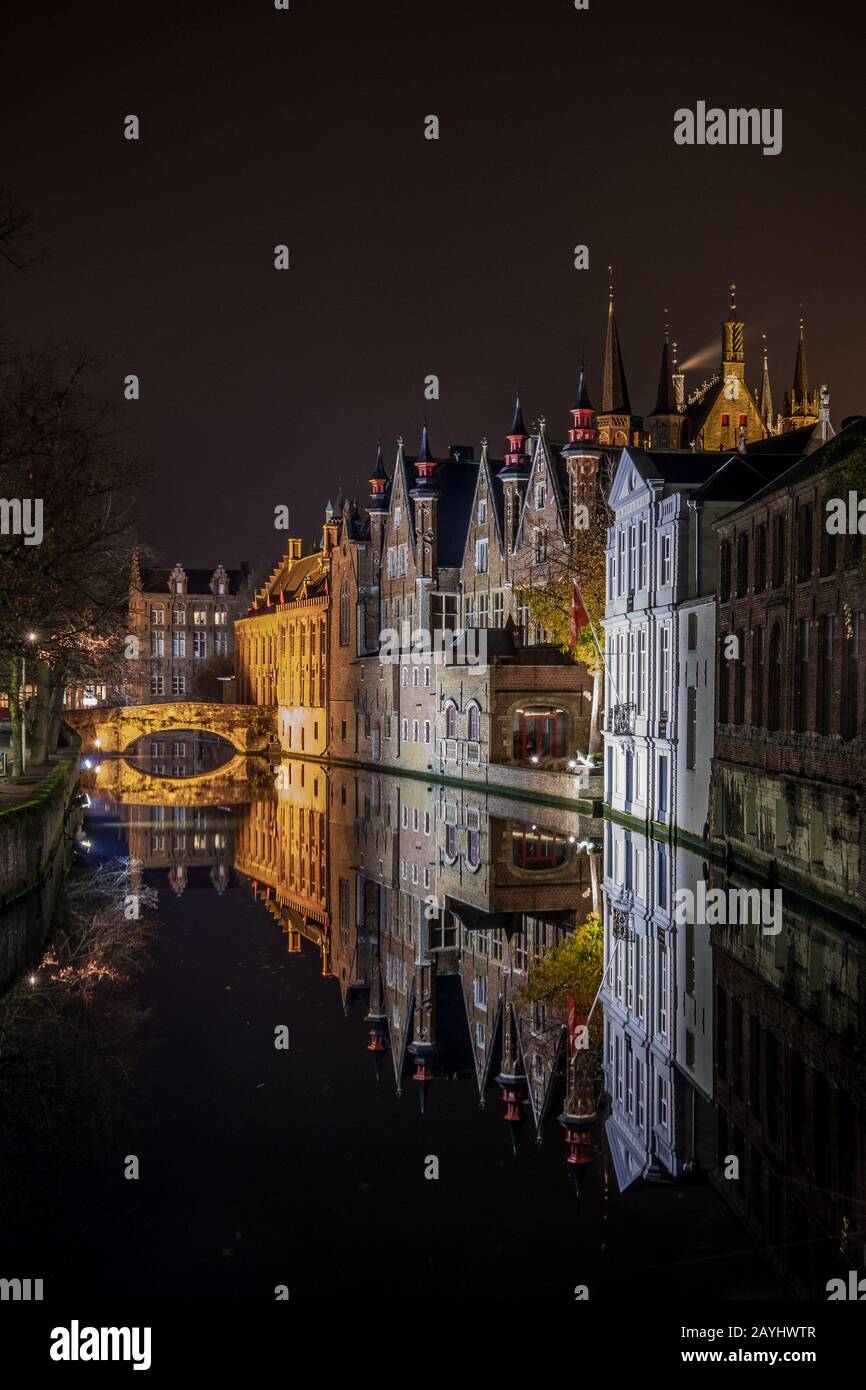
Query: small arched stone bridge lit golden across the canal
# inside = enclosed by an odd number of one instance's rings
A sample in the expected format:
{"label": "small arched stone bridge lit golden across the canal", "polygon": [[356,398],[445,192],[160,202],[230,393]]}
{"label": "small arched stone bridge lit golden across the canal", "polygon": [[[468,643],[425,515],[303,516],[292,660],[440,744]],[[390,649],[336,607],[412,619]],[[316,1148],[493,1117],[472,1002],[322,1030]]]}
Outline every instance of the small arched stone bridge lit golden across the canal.
{"label": "small arched stone bridge lit golden across the canal", "polygon": [[209,705],[170,701],[117,709],[70,709],[67,724],[82,737],[82,752],[125,753],[136,738],[200,730],[218,734],[238,753],[279,753],[277,710],[265,705]]}

